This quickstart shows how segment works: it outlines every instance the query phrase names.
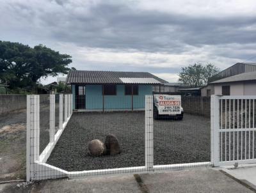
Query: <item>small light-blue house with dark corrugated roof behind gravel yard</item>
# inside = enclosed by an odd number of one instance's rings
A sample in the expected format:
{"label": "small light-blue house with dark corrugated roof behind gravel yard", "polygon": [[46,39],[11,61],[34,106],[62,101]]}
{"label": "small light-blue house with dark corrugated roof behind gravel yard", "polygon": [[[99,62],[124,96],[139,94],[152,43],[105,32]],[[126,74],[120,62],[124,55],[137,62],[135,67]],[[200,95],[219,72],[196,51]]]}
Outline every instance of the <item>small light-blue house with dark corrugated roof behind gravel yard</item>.
{"label": "small light-blue house with dark corrugated roof behind gravel yard", "polygon": [[74,109],[86,111],[138,110],[145,108],[145,95],[153,86],[167,83],[148,72],[71,70]]}

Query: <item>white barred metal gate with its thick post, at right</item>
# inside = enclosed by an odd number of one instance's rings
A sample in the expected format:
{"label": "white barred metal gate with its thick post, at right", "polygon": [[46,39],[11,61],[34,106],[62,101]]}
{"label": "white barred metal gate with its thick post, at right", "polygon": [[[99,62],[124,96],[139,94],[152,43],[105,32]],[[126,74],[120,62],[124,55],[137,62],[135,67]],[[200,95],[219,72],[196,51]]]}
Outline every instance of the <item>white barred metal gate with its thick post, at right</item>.
{"label": "white barred metal gate with its thick post, at right", "polygon": [[211,96],[214,166],[256,163],[256,96]]}

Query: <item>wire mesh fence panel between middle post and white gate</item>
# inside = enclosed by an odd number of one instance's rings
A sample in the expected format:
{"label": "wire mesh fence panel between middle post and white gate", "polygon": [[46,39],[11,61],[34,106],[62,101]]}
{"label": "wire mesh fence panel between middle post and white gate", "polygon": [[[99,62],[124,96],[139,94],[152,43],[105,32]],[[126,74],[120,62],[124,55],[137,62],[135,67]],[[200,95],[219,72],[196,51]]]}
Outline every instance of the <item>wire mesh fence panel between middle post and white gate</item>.
{"label": "wire mesh fence panel between middle post and white gate", "polygon": [[154,169],[201,167],[210,161],[210,118],[185,109],[180,114],[159,114],[154,102]]}

